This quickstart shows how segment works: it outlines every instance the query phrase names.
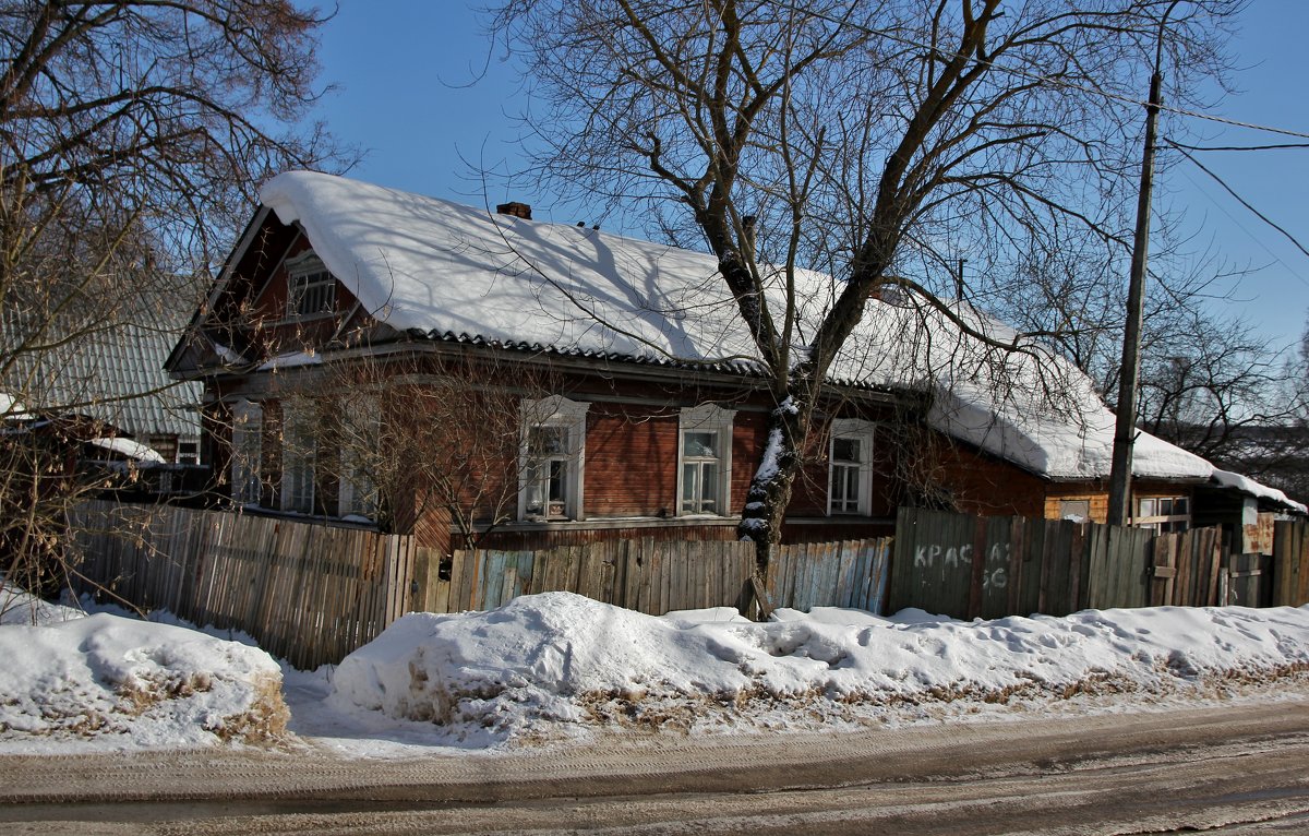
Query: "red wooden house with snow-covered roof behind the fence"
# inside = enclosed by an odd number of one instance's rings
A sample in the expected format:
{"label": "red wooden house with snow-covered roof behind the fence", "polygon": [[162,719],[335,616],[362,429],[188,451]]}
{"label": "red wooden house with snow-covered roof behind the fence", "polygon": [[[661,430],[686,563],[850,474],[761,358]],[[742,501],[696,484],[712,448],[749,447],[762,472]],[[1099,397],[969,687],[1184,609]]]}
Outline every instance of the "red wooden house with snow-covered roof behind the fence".
{"label": "red wooden house with snow-covered roof behind the fence", "polygon": [[[439,548],[734,536],[778,405],[712,257],[327,174],[260,197],[166,363],[204,384],[206,446],[237,504],[385,520]],[[800,280],[819,314],[835,283]],[[906,501],[1102,515],[1113,417],[1089,381],[959,322],[1013,339],[967,305],[868,301],[787,539],[886,532]],[[454,455],[420,443],[433,435]],[[1190,524],[1213,474],[1148,435],[1135,470],[1141,522],[1161,529]],[[448,474],[448,501],[425,502]]]}

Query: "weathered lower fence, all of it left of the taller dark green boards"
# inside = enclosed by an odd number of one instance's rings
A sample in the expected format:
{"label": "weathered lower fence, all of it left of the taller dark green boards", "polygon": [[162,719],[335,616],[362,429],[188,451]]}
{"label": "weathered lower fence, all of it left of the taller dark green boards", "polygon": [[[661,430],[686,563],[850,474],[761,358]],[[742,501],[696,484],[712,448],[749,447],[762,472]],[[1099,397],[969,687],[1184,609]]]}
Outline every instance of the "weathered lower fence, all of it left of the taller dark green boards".
{"label": "weathered lower fence, all of it left of the taller dark green boards", "polygon": [[[171,506],[88,502],[69,523],[77,591],[247,633],[302,670],[339,662],[412,611],[493,609],[560,590],[662,615],[746,609],[754,594],[754,549],[738,541],[606,541],[445,561],[412,537]],[[766,599],[882,612],[890,542],[783,546]]]}

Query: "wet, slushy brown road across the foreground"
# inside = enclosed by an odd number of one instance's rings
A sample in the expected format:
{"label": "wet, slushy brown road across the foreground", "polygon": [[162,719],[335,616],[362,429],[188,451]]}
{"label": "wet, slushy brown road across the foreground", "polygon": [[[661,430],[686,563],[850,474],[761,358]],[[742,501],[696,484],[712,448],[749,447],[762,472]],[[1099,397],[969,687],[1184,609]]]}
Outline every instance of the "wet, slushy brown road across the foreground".
{"label": "wet, slushy brown road across the foreground", "polygon": [[13,833],[1309,832],[1309,702],[403,761],[0,757]]}

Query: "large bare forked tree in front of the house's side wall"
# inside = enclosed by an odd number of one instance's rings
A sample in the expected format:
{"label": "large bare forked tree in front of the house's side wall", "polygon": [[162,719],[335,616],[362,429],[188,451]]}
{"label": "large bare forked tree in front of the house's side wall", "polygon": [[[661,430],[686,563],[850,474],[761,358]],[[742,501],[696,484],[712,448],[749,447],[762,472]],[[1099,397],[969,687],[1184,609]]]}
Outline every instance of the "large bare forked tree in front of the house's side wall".
{"label": "large bare forked tree in front of the house's side wall", "polygon": [[[647,200],[664,229],[717,258],[776,402],[740,525],[762,570],[865,300],[899,287],[973,330],[906,267],[1062,225],[1121,244],[1139,156],[1124,101],[1145,88],[1165,5],[499,7],[495,31],[545,107],[529,124],[547,182]],[[1173,101],[1195,73],[1221,69],[1215,24],[1236,5],[1199,0],[1170,18]],[[805,267],[830,282],[816,291]]]}

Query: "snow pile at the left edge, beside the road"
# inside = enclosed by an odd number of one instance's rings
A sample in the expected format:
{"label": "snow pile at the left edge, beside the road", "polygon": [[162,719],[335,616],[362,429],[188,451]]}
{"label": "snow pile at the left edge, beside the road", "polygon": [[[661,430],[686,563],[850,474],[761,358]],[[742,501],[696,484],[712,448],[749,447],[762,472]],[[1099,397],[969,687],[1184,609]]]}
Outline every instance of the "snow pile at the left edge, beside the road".
{"label": "snow pile at the left edge, beside the road", "polygon": [[0,594],[10,603],[0,618],[0,750],[257,743],[285,730],[280,668],[257,647]]}

